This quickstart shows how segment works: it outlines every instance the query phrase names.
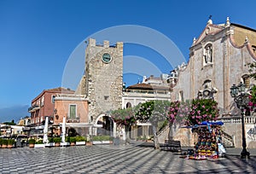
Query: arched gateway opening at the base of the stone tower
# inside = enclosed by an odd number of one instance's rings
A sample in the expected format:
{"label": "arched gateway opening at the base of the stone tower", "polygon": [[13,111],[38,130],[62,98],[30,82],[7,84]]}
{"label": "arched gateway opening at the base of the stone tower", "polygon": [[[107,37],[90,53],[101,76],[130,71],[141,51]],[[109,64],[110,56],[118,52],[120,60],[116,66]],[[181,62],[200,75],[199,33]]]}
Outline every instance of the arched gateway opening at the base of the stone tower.
{"label": "arched gateway opening at the base of the stone tower", "polygon": [[96,135],[113,136],[113,119],[108,115],[100,115],[96,119]]}

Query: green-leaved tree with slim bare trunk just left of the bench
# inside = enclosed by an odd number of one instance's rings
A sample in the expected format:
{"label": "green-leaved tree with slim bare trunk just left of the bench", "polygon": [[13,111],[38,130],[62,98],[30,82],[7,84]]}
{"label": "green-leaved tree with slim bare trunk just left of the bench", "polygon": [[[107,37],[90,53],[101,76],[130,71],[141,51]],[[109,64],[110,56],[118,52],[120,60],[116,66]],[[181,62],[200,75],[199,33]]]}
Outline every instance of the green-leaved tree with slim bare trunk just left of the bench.
{"label": "green-leaved tree with slim bare trunk just left of the bench", "polygon": [[157,136],[157,127],[160,122],[166,120],[168,107],[170,107],[170,102],[168,101],[144,102],[135,114],[135,118],[141,123],[149,121],[152,124],[154,132],[154,148],[160,148]]}

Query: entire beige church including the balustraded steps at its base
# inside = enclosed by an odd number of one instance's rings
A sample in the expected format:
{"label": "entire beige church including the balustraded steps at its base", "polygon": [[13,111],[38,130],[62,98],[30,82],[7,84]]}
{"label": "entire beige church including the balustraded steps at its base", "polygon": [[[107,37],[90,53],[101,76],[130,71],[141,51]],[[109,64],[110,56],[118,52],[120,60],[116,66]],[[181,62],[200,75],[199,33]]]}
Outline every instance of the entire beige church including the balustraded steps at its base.
{"label": "entire beige church including the balustraded steps at its base", "polygon": [[[172,101],[213,98],[218,102],[220,120],[224,121],[223,140],[241,148],[241,112],[230,96],[230,87],[240,82],[249,89],[255,81],[248,78],[247,63],[256,59],[256,30],[247,26],[207,21],[207,26],[189,48],[189,63],[172,71]],[[247,113],[247,147],[255,146],[255,117]],[[166,135],[163,135],[166,138]],[[175,138],[183,145],[193,145],[191,132],[177,129]]]}

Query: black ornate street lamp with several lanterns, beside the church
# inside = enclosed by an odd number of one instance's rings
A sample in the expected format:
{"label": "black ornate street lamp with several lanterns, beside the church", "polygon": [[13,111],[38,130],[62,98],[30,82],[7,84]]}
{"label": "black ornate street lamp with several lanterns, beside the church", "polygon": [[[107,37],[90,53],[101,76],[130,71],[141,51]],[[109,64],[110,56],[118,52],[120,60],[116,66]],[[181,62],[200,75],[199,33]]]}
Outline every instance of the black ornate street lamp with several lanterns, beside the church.
{"label": "black ornate street lamp with several lanterns, beside the church", "polygon": [[240,83],[236,86],[230,88],[230,95],[234,98],[234,102],[236,102],[236,107],[241,110],[241,136],[242,136],[242,150],[241,150],[241,159],[250,158],[250,153],[247,151],[247,142],[244,130],[244,115],[246,108],[248,107],[248,103],[250,102],[249,95],[245,91],[245,84]]}

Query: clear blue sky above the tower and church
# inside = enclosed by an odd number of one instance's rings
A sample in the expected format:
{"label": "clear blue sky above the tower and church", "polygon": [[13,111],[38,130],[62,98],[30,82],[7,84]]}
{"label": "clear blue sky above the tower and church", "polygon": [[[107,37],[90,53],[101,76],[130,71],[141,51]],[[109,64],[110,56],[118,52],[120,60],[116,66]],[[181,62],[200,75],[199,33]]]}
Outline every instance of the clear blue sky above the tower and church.
{"label": "clear blue sky above the tower and church", "polygon": [[[146,26],[171,39],[188,61],[192,40],[199,37],[210,14],[214,24],[230,16],[233,23],[256,28],[256,2],[246,2],[1,0],[0,122],[29,115],[27,107],[34,97],[61,86],[73,50],[96,32],[113,26]],[[115,39],[108,39],[115,44]],[[76,56],[83,60],[83,54]],[[162,73],[172,70],[159,61],[161,55],[143,45],[125,44],[124,55],[143,57]],[[139,76],[124,78],[127,84],[136,84]]]}

